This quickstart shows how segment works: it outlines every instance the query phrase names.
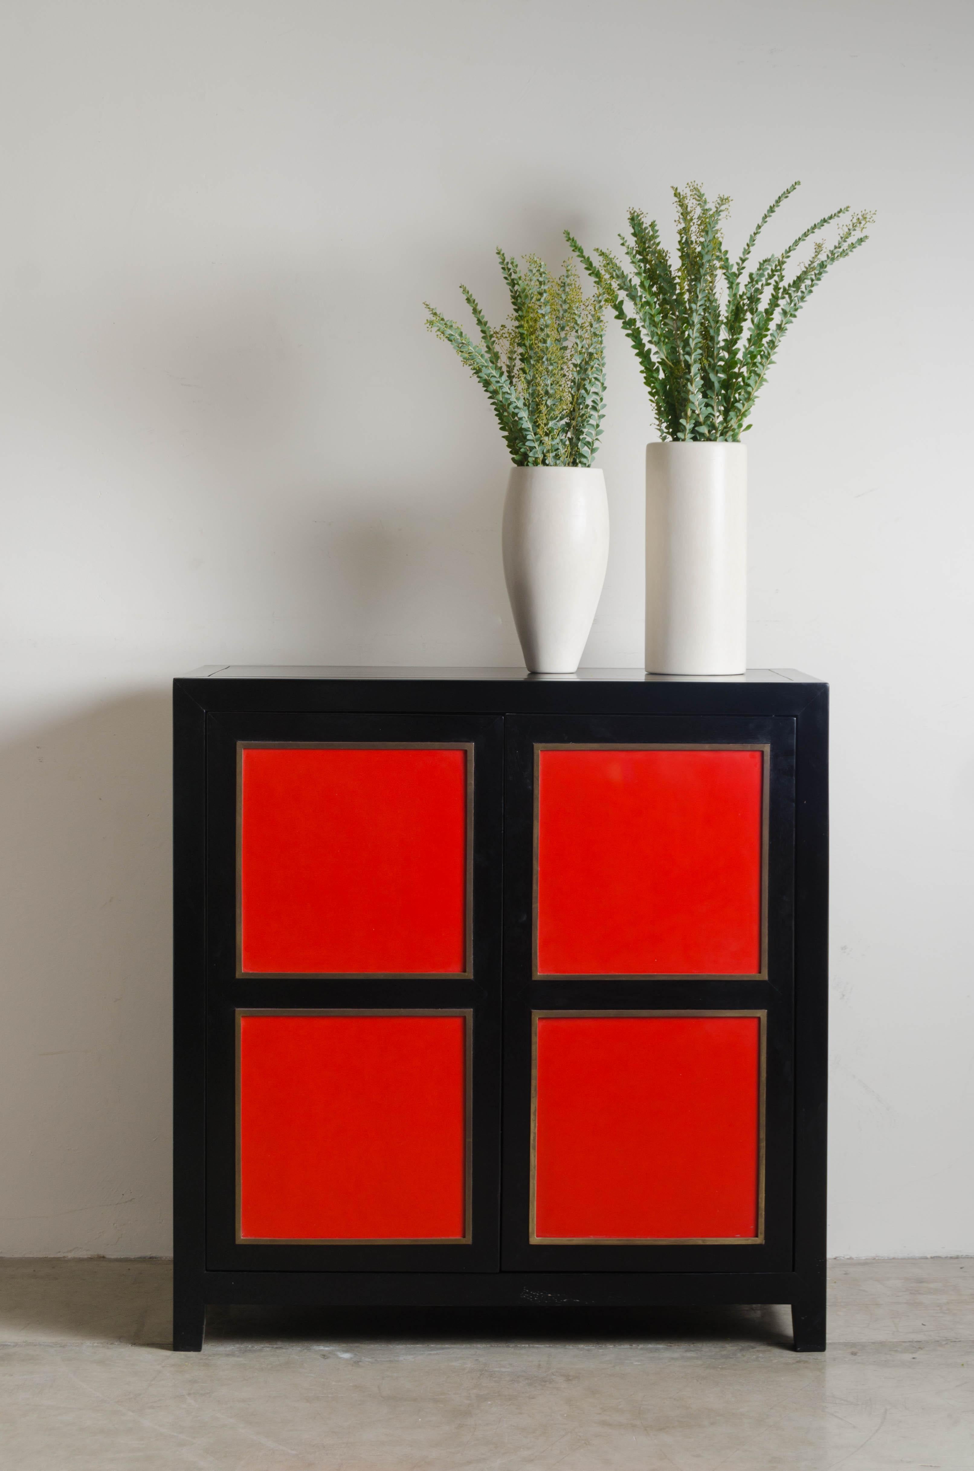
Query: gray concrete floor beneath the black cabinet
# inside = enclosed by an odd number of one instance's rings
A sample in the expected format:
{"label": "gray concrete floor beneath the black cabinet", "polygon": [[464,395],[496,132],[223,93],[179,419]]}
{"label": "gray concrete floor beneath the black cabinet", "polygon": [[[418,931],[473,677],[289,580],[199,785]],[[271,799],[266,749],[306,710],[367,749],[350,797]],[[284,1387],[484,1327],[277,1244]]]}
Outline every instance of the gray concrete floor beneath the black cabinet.
{"label": "gray concrete floor beneath the black cabinet", "polygon": [[974,1471],[974,1259],[834,1262],[787,1309],[210,1312],[165,1262],[0,1262],[3,1471]]}

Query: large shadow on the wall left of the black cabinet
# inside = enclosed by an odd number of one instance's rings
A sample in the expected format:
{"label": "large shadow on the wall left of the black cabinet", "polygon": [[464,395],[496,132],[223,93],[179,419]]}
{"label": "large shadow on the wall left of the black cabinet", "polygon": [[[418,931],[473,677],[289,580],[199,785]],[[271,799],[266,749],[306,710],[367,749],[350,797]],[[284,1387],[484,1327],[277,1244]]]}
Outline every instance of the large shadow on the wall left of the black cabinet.
{"label": "large shadow on the wall left of the black cabinet", "polygon": [[168,690],[0,749],[0,1250],[166,1252]]}

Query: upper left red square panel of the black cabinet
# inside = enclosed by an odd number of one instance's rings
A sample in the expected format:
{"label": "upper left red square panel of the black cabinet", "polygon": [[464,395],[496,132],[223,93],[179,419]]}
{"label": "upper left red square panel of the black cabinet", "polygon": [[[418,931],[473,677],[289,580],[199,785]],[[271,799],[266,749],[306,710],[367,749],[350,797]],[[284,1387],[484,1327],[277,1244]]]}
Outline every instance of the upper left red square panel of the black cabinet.
{"label": "upper left red square panel of the black cabinet", "polygon": [[246,972],[466,968],[466,752],[243,752]]}

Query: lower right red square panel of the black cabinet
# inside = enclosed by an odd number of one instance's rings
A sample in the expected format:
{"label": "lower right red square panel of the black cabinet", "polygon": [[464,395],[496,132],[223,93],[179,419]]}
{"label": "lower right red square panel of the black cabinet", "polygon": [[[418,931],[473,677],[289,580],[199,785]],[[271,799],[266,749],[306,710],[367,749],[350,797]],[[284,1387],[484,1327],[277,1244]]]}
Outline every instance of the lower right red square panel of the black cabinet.
{"label": "lower right red square panel of the black cabinet", "polygon": [[536,1237],[753,1239],[759,1028],[540,1018]]}

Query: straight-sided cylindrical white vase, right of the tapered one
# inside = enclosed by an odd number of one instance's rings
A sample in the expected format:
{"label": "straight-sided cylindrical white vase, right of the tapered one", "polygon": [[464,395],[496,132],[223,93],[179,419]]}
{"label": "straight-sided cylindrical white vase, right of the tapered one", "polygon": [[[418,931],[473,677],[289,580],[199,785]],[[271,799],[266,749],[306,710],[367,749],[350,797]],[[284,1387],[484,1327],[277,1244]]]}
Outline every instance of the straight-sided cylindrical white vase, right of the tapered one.
{"label": "straight-sided cylindrical white vase, right of the tapered one", "polygon": [[743,674],[747,450],[646,446],[646,669]]}

